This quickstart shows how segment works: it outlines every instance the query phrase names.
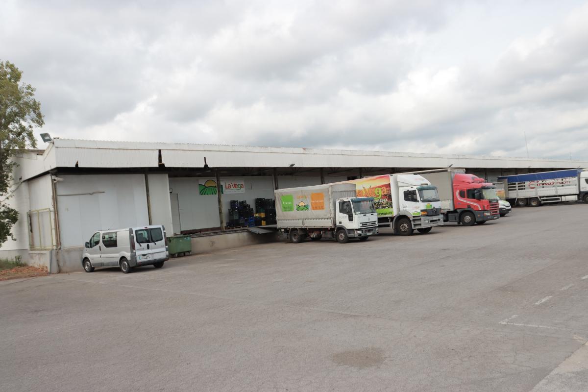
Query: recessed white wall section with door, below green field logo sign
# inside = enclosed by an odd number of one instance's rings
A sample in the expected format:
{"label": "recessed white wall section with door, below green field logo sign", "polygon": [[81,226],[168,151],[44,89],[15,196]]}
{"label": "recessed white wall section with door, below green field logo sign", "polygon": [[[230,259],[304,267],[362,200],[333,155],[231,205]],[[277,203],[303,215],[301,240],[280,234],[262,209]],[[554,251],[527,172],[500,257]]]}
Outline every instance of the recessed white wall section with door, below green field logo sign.
{"label": "recessed white wall section with door, below green field logo sign", "polygon": [[[219,209],[216,195],[200,195],[198,177],[170,177],[171,194],[178,195],[181,230],[207,229],[219,227]],[[169,197],[169,196],[168,196]],[[178,233],[177,222],[173,222],[173,232]]]}

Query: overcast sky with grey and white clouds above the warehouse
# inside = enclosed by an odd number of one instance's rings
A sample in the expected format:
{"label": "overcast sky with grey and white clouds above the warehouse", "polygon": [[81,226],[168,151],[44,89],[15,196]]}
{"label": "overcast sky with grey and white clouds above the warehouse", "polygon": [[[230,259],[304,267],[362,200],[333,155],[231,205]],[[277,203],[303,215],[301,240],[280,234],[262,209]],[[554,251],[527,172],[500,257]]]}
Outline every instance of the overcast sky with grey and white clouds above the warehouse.
{"label": "overcast sky with grey and white clouds above the warehouse", "polygon": [[0,0],[0,59],[61,138],[588,159],[582,1]]}

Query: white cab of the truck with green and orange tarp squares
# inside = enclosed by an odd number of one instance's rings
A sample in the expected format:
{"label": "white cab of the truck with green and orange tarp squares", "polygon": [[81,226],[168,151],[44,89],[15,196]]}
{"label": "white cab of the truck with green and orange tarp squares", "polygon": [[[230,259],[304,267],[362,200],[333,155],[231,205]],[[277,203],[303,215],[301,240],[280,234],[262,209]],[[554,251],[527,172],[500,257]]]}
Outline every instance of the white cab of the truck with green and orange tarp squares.
{"label": "white cab of the truck with green and orange tarp squares", "polygon": [[344,197],[337,199],[336,205],[338,242],[345,243],[349,238],[365,241],[369,236],[377,234],[377,212],[373,197]]}

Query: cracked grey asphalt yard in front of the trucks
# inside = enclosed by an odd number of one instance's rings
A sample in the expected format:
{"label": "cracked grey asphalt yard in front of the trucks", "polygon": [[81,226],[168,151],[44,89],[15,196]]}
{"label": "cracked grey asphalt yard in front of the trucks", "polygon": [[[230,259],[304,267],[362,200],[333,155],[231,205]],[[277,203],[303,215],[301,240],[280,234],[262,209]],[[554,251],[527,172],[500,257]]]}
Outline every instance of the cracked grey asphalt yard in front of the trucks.
{"label": "cracked grey asphalt yard in front of the trucks", "polygon": [[0,282],[0,390],[586,391],[587,216]]}

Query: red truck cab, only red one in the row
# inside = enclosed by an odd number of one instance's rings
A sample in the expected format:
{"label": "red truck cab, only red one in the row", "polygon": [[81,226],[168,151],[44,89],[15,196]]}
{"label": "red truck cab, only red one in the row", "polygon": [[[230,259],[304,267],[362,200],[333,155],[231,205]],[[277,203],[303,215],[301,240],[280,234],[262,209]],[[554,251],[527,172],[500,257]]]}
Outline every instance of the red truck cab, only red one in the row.
{"label": "red truck cab, only red one in the row", "polygon": [[500,217],[496,187],[472,174],[456,173],[453,176],[454,210],[446,213],[445,222],[465,226],[482,224]]}

